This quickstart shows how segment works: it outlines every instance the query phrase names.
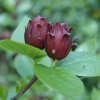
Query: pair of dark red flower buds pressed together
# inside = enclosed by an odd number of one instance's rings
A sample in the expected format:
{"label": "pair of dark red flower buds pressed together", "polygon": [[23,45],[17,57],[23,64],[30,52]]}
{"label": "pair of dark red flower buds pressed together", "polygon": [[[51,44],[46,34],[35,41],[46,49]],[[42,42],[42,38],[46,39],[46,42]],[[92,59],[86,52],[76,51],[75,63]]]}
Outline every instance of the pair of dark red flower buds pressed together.
{"label": "pair of dark red flower buds pressed together", "polygon": [[54,25],[46,21],[46,18],[37,16],[29,20],[25,29],[25,43],[46,50],[53,60],[65,58],[71,47],[76,45],[70,39],[71,30],[66,23],[56,22]]}

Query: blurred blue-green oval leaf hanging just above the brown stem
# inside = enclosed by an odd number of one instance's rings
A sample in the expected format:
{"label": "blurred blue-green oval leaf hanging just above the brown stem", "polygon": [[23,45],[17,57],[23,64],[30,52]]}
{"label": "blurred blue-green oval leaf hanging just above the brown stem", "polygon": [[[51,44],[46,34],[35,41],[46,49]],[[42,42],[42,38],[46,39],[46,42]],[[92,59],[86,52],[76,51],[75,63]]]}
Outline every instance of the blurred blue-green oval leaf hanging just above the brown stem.
{"label": "blurred blue-green oval leaf hanging just above the brown stem", "polygon": [[21,77],[26,78],[28,76],[32,76],[33,72],[33,63],[24,55],[17,55],[14,59],[14,66],[17,72]]}

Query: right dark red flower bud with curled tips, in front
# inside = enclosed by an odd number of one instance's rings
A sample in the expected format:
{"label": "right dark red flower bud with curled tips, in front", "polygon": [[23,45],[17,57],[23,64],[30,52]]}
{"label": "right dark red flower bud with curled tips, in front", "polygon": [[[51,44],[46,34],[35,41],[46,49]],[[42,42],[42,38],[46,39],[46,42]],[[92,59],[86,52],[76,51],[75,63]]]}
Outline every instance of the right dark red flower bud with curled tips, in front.
{"label": "right dark red flower bud with curled tips, in front", "polygon": [[66,57],[73,45],[73,41],[70,40],[71,28],[65,23],[57,22],[55,25],[51,25],[50,32],[46,40],[45,49],[49,57],[55,59],[63,59]]}

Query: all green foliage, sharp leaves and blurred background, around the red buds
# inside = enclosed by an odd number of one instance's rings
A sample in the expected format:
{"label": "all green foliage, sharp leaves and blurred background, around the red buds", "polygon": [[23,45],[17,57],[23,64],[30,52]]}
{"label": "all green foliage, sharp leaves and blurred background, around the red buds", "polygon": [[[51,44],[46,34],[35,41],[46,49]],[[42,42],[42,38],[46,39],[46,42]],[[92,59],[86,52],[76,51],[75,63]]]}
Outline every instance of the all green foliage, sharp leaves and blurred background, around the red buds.
{"label": "all green foliage, sharp leaves and blurred background, around the red buds", "polygon": [[[0,100],[10,100],[29,82],[34,73],[39,80],[19,100],[99,100],[99,2],[0,1],[0,35],[13,32],[11,40],[0,41]],[[57,61],[55,67],[50,67],[52,61],[44,50],[24,44],[25,26],[30,19],[24,16],[36,15],[46,16],[52,23],[59,20],[75,26],[72,35],[81,38],[76,41],[79,46],[72,48],[65,59]],[[17,56],[15,52],[18,53]]]}

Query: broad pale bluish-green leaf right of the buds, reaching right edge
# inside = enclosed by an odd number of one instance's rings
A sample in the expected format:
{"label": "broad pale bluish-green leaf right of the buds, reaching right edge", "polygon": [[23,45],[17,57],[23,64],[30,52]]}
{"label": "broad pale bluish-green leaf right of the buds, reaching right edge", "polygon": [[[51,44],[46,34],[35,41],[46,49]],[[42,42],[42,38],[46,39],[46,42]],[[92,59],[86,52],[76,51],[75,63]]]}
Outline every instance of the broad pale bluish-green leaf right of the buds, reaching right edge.
{"label": "broad pale bluish-green leaf right of the buds, reaching right edge", "polygon": [[100,56],[89,52],[71,52],[56,63],[56,68],[78,76],[99,76]]}

